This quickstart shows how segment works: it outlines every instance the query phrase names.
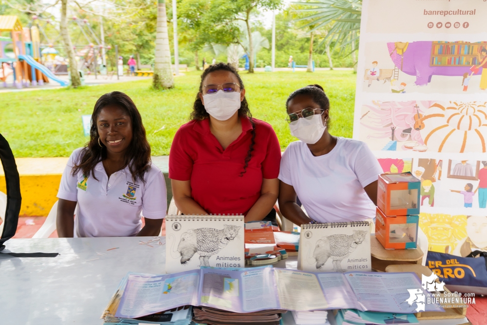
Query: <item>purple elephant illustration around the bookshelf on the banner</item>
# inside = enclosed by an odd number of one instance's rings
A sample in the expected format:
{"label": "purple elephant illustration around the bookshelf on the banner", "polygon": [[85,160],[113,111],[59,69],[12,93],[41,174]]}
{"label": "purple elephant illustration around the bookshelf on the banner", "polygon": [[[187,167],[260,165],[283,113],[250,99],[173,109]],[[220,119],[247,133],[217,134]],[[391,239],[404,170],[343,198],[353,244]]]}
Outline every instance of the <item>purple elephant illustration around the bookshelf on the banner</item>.
{"label": "purple elephant illustration around the bookshelf on the banner", "polygon": [[[398,48],[397,45],[403,48]],[[431,76],[463,76],[471,73],[470,66],[430,66],[432,41],[410,42],[404,50],[405,45],[406,43],[390,42],[387,43],[387,48],[394,65],[405,74],[416,76],[414,83],[418,86],[431,82]],[[477,74],[481,73],[482,68]]]}

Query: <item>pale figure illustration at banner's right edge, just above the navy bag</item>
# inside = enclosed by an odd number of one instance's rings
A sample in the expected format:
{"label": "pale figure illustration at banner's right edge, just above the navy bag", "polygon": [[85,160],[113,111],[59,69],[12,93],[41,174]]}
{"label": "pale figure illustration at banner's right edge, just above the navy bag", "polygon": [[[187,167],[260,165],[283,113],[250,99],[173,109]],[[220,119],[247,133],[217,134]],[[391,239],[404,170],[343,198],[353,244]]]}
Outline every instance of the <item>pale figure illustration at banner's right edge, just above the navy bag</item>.
{"label": "pale figure illustration at banner's right edge, just above the navy bag", "polygon": [[487,216],[467,216],[467,237],[458,241],[452,254],[465,257],[475,250],[487,251]]}

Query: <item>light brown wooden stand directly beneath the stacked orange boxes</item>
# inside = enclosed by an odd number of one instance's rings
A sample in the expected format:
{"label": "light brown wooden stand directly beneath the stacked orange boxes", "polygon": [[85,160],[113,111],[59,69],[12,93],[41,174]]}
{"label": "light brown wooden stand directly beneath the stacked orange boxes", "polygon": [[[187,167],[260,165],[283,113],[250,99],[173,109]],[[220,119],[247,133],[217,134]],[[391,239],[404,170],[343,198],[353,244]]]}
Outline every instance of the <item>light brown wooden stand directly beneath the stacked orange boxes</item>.
{"label": "light brown wooden stand directly beneath the stacked orange boxes", "polygon": [[372,270],[386,272],[389,265],[421,265],[423,251],[417,249],[385,249],[379,243],[375,235],[370,235],[370,255]]}

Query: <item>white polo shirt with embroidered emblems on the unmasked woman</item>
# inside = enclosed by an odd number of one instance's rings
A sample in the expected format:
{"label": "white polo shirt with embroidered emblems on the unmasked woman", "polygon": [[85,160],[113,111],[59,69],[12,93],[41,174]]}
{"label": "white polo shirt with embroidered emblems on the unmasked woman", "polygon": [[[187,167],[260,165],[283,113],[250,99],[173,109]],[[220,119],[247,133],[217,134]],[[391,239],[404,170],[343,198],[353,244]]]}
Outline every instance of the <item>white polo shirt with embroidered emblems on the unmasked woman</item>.
{"label": "white polo shirt with embroidered emblems on the unmasked woman", "polygon": [[166,182],[162,172],[151,164],[144,174],[145,183],[132,180],[128,167],[108,178],[103,163],[95,166],[95,176],[79,171],[72,174],[83,148],[69,157],[59,184],[58,198],[78,202],[75,237],[127,237],[136,235],[144,218],[163,219],[166,215]]}

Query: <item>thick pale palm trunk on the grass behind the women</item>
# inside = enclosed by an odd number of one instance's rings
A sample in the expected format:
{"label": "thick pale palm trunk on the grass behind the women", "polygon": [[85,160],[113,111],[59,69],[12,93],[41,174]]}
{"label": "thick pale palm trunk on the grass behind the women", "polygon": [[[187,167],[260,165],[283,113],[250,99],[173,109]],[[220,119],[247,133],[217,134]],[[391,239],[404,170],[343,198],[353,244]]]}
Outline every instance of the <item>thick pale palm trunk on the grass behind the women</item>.
{"label": "thick pale palm trunk on the grass behind the women", "polygon": [[156,89],[174,87],[165,0],[157,1],[156,56],[154,59],[154,79],[152,83]]}

